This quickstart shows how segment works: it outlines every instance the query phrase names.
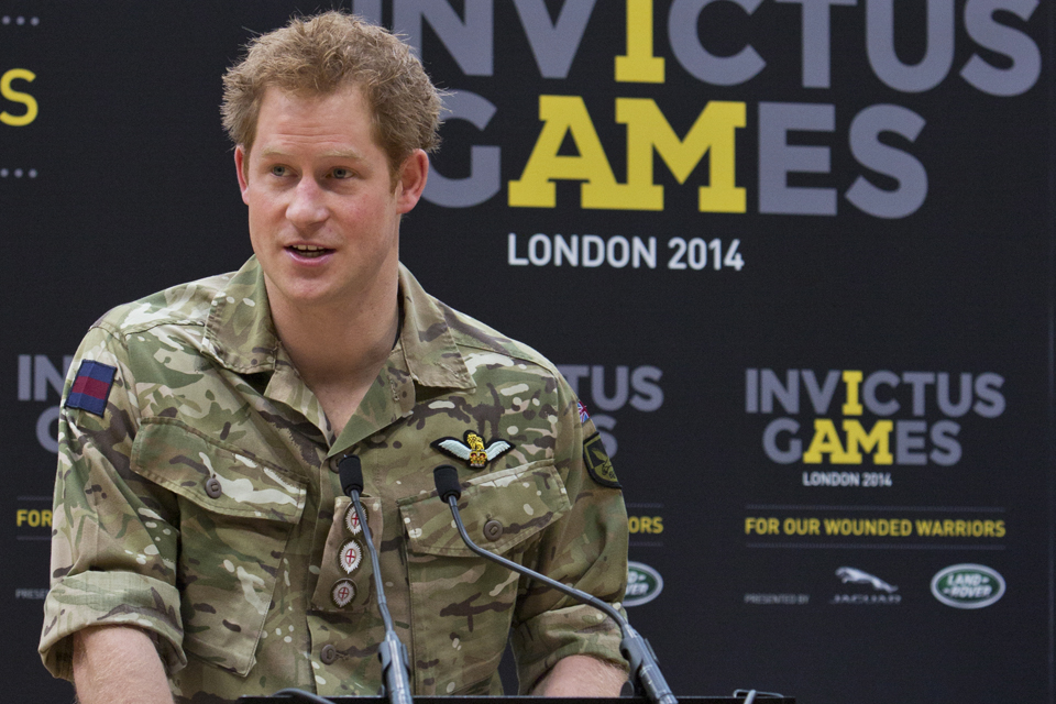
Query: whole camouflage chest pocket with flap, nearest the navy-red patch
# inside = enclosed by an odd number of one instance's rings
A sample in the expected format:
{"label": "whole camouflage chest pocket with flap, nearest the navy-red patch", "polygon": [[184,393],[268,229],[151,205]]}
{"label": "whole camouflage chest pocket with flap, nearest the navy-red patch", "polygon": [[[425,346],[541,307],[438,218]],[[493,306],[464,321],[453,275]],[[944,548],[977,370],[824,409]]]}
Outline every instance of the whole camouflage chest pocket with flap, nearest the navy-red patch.
{"label": "whole camouflage chest pocket with flap, nearest the navy-red patch", "polygon": [[170,418],[141,426],[132,470],[177,496],[184,650],[245,675],[306,483]]}

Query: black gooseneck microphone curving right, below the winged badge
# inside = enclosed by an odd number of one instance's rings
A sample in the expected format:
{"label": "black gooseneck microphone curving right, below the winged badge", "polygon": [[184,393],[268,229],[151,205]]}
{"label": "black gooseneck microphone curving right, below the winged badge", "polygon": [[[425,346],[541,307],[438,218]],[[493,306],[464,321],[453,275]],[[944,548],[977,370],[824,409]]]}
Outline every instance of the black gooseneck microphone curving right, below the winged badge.
{"label": "black gooseneck microphone curving right, below the winged badge", "polygon": [[459,529],[459,535],[462,536],[462,541],[470,550],[482,558],[498,562],[518,574],[538,580],[558,590],[562,594],[568,594],[578,602],[590,604],[594,608],[604,612],[609,618],[619,624],[619,631],[623,635],[619,641],[619,652],[627,659],[627,662],[630,663],[630,682],[635,686],[635,694],[648,697],[653,704],[678,704],[678,700],[675,700],[674,694],[671,693],[671,688],[668,686],[663,675],[660,674],[657,656],[652,651],[649,641],[631,628],[627,619],[619,615],[619,612],[586,592],[562,584],[544,574],[540,574],[535,570],[530,570],[479,547],[470,540],[469,534],[465,532],[465,526],[462,525],[462,517],[459,515],[459,497],[462,496],[462,486],[459,484],[459,471],[450,464],[442,464],[432,471],[432,477],[437,484],[437,494],[440,496],[440,501],[451,507],[454,525]]}

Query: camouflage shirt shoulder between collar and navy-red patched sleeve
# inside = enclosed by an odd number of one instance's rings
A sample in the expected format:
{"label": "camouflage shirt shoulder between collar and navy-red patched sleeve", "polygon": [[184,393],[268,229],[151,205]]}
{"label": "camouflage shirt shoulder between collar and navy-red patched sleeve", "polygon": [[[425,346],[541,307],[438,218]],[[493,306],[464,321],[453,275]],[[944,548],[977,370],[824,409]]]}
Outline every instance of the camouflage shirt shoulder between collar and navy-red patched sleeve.
{"label": "camouflage shirt shoulder between collar and navy-red patched sleeve", "polygon": [[179,284],[108,311],[92,327],[116,336],[142,332],[157,326],[204,326],[213,299],[232,274]]}

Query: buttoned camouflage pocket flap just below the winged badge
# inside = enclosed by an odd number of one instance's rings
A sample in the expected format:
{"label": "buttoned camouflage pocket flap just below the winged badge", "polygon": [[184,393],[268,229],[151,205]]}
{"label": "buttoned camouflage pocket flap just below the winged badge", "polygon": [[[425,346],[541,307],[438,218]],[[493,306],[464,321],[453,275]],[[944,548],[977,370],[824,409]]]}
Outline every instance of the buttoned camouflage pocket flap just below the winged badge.
{"label": "buttoned camouflage pocket flap just below the winged badge", "polygon": [[[503,553],[531,538],[571,508],[551,460],[473,476],[462,482],[459,513],[470,538]],[[436,492],[399,502],[411,552],[474,557],[462,542],[451,508]]]}

